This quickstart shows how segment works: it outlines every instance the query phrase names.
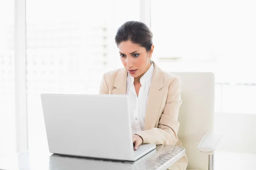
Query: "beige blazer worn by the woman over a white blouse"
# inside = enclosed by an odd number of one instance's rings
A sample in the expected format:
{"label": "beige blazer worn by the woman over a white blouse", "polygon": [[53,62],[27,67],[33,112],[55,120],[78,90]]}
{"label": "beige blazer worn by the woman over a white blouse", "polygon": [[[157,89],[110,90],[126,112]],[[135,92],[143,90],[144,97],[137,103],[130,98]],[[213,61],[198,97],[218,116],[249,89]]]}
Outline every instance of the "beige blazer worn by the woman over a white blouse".
{"label": "beige blazer worn by the woman over a white blouse", "polygon": [[[137,134],[143,138],[143,143],[181,146],[177,137],[180,126],[177,120],[182,103],[180,77],[152,63],[154,71],[145,114],[145,130]],[[99,94],[126,94],[127,75],[125,68],[105,73]],[[187,162],[185,155],[169,169],[186,170]]]}

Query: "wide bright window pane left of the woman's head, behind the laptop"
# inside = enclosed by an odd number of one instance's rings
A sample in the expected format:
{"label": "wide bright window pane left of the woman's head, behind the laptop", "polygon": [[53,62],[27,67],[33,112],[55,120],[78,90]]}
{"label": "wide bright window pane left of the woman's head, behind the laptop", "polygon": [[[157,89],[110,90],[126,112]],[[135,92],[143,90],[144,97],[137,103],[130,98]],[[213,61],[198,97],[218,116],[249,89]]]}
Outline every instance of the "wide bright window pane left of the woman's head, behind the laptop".
{"label": "wide bright window pane left of the woman's head, behind the laptop", "polygon": [[98,94],[103,72],[122,67],[116,30],[139,20],[139,8],[137,0],[26,1],[29,149],[48,149],[40,94]]}

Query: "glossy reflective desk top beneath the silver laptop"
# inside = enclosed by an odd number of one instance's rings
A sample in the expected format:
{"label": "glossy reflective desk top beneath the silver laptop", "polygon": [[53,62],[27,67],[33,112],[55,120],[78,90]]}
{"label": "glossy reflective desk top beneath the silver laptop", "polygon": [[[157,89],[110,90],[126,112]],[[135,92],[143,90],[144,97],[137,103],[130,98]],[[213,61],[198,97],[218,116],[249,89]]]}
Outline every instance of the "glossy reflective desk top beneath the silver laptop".
{"label": "glossy reflective desk top beneath the silver laptop", "polygon": [[113,161],[51,153],[24,151],[16,158],[0,159],[0,169],[6,170],[165,170],[185,155],[183,147],[157,145],[137,161]]}

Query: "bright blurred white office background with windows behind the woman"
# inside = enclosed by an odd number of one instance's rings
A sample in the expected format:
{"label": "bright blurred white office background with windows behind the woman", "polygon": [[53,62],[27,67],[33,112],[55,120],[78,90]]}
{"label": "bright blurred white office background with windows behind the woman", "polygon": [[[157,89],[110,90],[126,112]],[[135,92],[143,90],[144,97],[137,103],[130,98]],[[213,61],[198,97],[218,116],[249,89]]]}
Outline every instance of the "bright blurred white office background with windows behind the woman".
{"label": "bright blurred white office background with windows behind the woman", "polygon": [[117,28],[138,20],[160,68],[215,73],[215,168],[255,169],[255,9],[254,0],[0,0],[0,153],[48,150],[40,94],[98,94],[102,74],[122,67]]}

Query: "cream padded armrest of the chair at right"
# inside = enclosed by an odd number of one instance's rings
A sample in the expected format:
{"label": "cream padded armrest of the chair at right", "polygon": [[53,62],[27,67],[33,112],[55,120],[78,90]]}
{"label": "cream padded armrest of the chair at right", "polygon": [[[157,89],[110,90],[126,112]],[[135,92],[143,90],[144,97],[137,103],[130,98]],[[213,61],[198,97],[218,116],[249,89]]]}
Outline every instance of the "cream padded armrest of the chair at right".
{"label": "cream padded armrest of the chair at right", "polygon": [[220,134],[207,132],[201,142],[198,144],[198,149],[201,153],[212,155],[217,147],[219,140],[221,139]]}

